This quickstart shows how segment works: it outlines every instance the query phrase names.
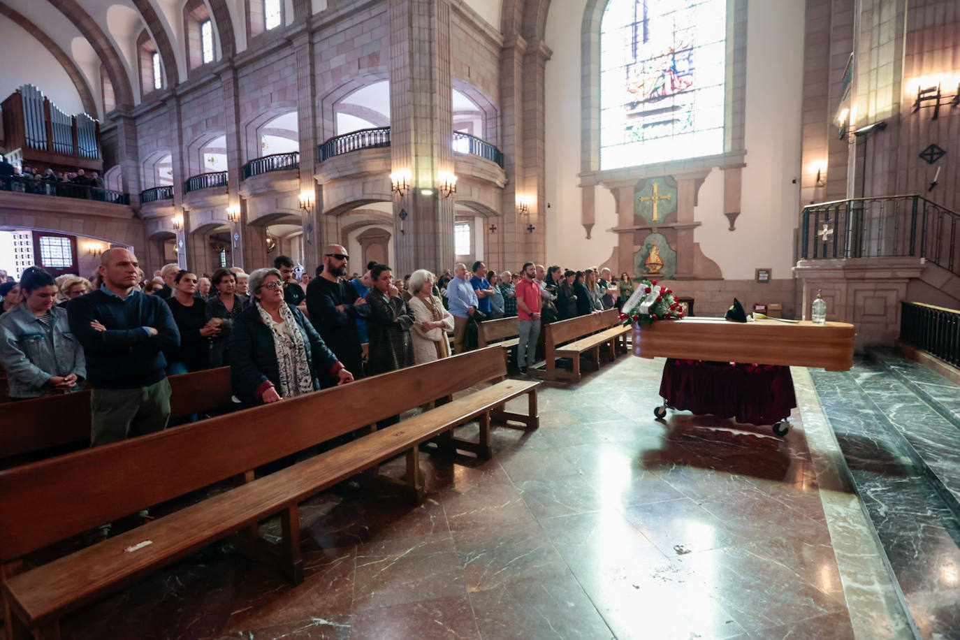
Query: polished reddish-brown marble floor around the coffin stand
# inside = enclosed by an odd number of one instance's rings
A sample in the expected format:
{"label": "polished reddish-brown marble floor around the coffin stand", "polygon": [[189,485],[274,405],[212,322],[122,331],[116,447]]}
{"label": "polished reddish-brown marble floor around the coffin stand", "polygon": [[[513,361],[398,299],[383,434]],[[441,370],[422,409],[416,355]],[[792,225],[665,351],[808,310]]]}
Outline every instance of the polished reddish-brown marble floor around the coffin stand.
{"label": "polished reddish-brown marble floor around the coffin stand", "polygon": [[623,357],[545,385],[540,429],[496,429],[491,461],[423,456],[420,507],[350,484],[315,496],[299,586],[215,545],[63,635],[911,637],[809,373],[794,369],[800,409],[777,439],[655,419],[661,367]]}

